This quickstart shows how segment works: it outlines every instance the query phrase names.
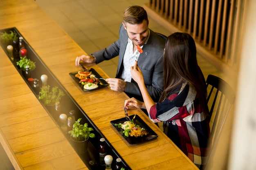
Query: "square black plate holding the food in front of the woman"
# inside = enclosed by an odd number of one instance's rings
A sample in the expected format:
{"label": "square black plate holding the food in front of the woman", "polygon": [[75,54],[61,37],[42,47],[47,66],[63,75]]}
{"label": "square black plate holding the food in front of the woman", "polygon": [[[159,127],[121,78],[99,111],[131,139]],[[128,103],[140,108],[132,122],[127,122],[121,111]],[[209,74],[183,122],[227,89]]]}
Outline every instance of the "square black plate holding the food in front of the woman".
{"label": "square black plate holding the food in front of the woman", "polygon": [[145,128],[145,130],[148,132],[148,135],[145,135],[142,137],[130,137],[130,136],[126,137],[123,133],[124,129],[118,128],[117,126],[115,126],[115,124],[119,124],[119,123],[123,124],[125,121],[127,121],[126,117],[110,121],[112,126],[114,126],[114,128],[120,133],[122,137],[124,137],[124,139],[126,139],[126,141],[129,144],[131,145],[139,144],[141,142],[145,142],[158,137],[158,135],[138,115],[131,115],[129,117],[130,119],[133,119],[133,123],[135,123],[136,125],[139,125],[141,128]]}

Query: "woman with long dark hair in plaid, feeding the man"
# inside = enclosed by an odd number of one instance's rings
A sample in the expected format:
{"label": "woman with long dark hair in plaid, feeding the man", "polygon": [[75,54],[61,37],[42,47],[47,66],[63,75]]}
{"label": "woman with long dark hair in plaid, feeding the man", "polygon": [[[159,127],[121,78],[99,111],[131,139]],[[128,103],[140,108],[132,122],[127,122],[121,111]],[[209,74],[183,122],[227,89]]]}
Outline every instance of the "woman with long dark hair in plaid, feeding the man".
{"label": "woman with long dark hair in plaid, feeding the man", "polygon": [[164,133],[200,168],[209,147],[209,110],[206,84],[196,59],[193,38],[187,33],[173,33],[166,40],[164,57],[164,91],[154,103],[146,90],[137,62],[131,67],[144,102],[127,99],[125,107],[146,108],[154,122],[164,122]]}

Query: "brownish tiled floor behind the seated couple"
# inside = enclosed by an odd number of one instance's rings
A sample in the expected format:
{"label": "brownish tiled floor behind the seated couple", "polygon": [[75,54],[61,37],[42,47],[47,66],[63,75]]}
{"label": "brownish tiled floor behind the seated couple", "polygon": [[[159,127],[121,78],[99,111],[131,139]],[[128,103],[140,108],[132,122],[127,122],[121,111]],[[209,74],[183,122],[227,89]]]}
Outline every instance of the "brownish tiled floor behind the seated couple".
{"label": "brownish tiled floor behind the seated couple", "polygon": [[[126,7],[135,4],[143,6],[148,0],[58,0],[57,2],[56,0],[36,0],[36,2],[62,26],[86,53],[90,54],[117,40],[122,14]],[[86,25],[83,21],[91,24]],[[170,31],[150,17],[149,28],[167,36],[171,35]],[[76,56],[70,57],[75,59]],[[209,74],[222,77],[221,72],[200,55],[198,55],[198,63],[205,77]],[[110,77],[115,77],[117,64],[118,58],[115,58],[104,61],[99,66]]]}

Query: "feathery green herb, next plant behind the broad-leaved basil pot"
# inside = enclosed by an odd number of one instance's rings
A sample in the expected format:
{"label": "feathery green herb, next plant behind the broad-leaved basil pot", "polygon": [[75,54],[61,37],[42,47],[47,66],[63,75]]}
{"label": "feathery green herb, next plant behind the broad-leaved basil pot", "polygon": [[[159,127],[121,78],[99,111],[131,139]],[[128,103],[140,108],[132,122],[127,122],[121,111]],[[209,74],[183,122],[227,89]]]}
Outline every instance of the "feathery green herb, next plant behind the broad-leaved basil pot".
{"label": "feathery green herb, next plant behind the broad-leaved basil pot", "polygon": [[45,106],[55,106],[55,103],[59,102],[63,96],[65,96],[65,93],[61,89],[56,86],[50,89],[48,85],[47,88],[40,89],[38,99]]}

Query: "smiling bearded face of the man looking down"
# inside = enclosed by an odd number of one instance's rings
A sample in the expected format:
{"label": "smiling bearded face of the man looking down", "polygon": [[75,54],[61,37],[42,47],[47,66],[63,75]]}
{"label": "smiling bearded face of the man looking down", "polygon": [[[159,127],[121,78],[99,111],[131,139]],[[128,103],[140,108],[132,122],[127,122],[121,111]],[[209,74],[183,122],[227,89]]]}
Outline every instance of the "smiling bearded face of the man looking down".
{"label": "smiling bearded face of the man looking down", "polygon": [[142,46],[146,38],[148,37],[148,24],[146,20],[143,20],[141,24],[124,24],[124,28],[127,31],[128,37],[132,40],[135,46],[139,45]]}

